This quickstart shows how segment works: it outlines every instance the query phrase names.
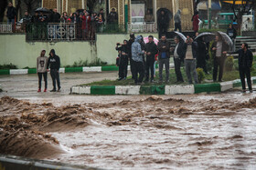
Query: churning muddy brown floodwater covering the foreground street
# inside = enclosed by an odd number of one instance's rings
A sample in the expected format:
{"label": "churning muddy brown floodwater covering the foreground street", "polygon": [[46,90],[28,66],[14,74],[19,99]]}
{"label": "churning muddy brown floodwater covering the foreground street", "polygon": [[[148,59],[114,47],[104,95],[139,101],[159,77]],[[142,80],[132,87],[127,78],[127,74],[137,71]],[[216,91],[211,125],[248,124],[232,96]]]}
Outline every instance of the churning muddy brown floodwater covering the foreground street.
{"label": "churning muddy brown floodwater covering the foreground street", "polygon": [[30,92],[37,82],[20,80],[19,91],[3,82],[13,90],[0,94],[1,154],[105,169],[256,169],[255,92],[41,95]]}

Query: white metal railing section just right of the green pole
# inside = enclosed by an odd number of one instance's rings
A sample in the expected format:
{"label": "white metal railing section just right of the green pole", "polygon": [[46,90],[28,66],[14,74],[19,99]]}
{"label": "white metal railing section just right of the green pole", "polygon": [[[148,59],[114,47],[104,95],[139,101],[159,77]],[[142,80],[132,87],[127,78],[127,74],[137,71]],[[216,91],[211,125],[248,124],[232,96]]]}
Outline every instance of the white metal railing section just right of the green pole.
{"label": "white metal railing section just right of the green pole", "polygon": [[155,22],[152,23],[128,23],[129,32],[157,32]]}

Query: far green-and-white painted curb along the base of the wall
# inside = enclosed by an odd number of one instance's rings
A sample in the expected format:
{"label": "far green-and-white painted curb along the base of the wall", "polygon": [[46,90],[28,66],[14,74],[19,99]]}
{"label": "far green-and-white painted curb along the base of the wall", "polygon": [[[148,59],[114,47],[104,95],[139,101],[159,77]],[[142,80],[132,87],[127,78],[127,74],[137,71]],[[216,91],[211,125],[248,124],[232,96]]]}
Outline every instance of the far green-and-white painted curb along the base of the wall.
{"label": "far green-and-white painted curb along the base of the wall", "polygon": [[[130,65],[128,66],[130,70]],[[59,73],[76,73],[76,72],[102,72],[102,71],[118,71],[118,66],[84,66],[84,67],[66,67],[59,68]],[[3,69],[0,70],[0,75],[27,75],[27,74],[37,74],[36,68],[28,69]]]}

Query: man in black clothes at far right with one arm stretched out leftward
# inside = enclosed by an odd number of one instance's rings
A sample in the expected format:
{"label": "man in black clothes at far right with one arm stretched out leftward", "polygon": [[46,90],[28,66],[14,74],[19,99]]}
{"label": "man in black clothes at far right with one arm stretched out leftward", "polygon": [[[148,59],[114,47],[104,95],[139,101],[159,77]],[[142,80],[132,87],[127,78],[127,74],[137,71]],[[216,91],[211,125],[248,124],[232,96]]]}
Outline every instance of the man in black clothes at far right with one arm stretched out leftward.
{"label": "man in black clothes at far right with one arm stretched out leftward", "polygon": [[243,43],[241,45],[241,49],[238,50],[237,52],[229,52],[229,54],[239,54],[239,70],[240,70],[240,82],[242,86],[242,91],[246,92],[245,88],[245,75],[247,79],[247,85],[252,92],[252,87],[251,87],[251,66],[252,66],[252,61],[253,61],[253,55],[250,49],[248,49],[248,44]]}

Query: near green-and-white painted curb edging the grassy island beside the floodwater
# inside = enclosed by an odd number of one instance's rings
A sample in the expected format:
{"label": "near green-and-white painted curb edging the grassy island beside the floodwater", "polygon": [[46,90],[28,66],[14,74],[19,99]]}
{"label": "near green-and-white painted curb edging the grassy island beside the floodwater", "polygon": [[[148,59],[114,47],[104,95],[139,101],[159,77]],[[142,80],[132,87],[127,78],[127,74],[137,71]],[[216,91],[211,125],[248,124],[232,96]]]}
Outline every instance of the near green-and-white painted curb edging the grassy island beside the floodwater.
{"label": "near green-and-white painted curb edging the grassy island beside the floodwater", "polygon": [[[256,77],[251,77],[256,85]],[[191,95],[200,93],[225,92],[240,87],[240,80],[200,85],[116,85],[116,86],[72,86],[73,95]]]}

